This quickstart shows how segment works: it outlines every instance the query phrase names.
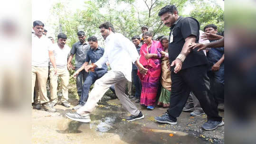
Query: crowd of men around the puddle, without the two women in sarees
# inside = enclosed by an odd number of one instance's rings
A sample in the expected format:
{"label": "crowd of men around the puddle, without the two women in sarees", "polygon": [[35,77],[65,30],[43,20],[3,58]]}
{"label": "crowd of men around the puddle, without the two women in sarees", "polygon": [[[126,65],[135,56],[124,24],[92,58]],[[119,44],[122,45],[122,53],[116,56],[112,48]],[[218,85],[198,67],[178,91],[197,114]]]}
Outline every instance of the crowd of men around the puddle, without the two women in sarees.
{"label": "crowd of men around the puddle, without the two women in sarees", "polygon": [[[218,35],[217,26],[210,24],[200,33],[199,22],[195,18],[181,17],[174,5],[167,5],[159,12],[166,27],[170,27],[168,57],[171,71],[170,107],[166,114],[155,117],[160,123],[177,124],[177,117],[183,111],[192,111],[191,116],[207,115],[205,130],[213,130],[224,125],[218,116],[218,104],[224,103],[224,36]],[[57,85],[60,78],[62,88],[61,103],[69,108],[68,81],[69,70],[75,70],[76,88],[79,102],[73,109],[76,113],[67,113],[70,119],[90,122],[90,113],[96,103],[110,88],[120,100],[123,108],[131,116],[127,121],[144,118],[142,112],[133,104],[140,102],[141,81],[137,72],[146,74],[140,62],[140,48],[144,44],[144,33],[149,27],[141,27],[142,34],[126,38],[115,32],[110,22],[104,22],[99,30],[106,42],[105,48],[98,45],[97,37],[90,36],[85,42],[85,32],[78,31],[79,41],[72,48],[66,45],[64,33],[54,38],[46,37],[44,24],[33,22],[32,34],[32,108],[41,107],[48,112],[56,112]],[[156,40],[161,41],[159,36]],[[201,43],[199,39],[209,40]],[[216,46],[217,45],[217,46]],[[208,48],[207,48],[208,47]],[[75,55],[75,66],[71,63]],[[106,63],[111,71],[107,71]],[[47,79],[49,77],[50,99],[47,97]],[[132,81],[133,78],[133,81]],[[132,94],[132,83],[135,94]],[[89,93],[91,85],[94,88]],[[128,87],[128,95],[125,87]],[[191,98],[190,98],[191,97]]]}

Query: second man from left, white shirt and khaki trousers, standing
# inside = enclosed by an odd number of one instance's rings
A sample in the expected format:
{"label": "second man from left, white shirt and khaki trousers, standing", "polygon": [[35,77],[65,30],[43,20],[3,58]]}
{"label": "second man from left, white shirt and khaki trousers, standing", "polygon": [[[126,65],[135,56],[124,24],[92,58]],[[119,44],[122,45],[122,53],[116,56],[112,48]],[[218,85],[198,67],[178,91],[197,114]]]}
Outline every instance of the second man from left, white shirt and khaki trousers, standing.
{"label": "second man from left, white shirt and khaki trousers, standing", "polygon": [[[70,47],[66,44],[66,35],[63,33],[58,34],[57,43],[53,44],[49,49],[49,56],[51,60],[50,64],[50,94],[52,107],[57,104],[57,86],[58,77],[60,77],[61,88],[62,88],[62,99],[61,103],[64,107],[69,108],[70,104],[68,100],[68,81],[69,72],[67,70],[67,57],[70,52]],[[55,73],[57,70],[57,73]]]}

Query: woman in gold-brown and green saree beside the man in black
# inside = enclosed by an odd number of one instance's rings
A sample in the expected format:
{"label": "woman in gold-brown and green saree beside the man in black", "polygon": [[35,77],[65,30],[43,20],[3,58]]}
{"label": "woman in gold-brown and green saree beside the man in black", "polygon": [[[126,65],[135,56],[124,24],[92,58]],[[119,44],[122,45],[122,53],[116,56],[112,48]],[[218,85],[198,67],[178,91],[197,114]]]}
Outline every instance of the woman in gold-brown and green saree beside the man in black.
{"label": "woman in gold-brown and green saree beside the man in black", "polygon": [[166,36],[162,37],[160,40],[163,51],[161,51],[161,94],[159,96],[157,105],[162,107],[170,106],[170,96],[171,96],[171,72],[169,71],[170,62],[168,58],[168,38]]}

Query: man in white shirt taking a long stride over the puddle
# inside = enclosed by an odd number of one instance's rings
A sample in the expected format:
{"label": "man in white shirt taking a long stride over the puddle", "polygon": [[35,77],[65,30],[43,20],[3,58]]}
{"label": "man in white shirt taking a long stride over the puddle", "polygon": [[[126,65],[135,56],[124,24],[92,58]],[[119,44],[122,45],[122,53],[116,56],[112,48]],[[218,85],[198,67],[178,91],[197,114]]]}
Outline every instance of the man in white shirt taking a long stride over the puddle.
{"label": "man in white shirt taking a long stride over the puddle", "polygon": [[66,116],[72,120],[80,122],[90,122],[90,113],[95,109],[96,103],[103,97],[104,93],[111,85],[114,85],[116,96],[120,100],[123,108],[131,116],[127,121],[144,118],[142,112],[136,108],[128,96],[125,94],[126,81],[132,81],[132,63],[135,63],[141,73],[146,73],[141,63],[139,54],[133,43],[120,33],[114,33],[114,27],[110,22],[104,22],[99,26],[103,38],[106,40],[103,56],[95,63],[87,65],[85,71],[94,71],[96,67],[101,68],[107,61],[110,63],[111,71],[95,81],[95,86],[90,92],[85,105],[76,110],[76,113],[67,113]]}

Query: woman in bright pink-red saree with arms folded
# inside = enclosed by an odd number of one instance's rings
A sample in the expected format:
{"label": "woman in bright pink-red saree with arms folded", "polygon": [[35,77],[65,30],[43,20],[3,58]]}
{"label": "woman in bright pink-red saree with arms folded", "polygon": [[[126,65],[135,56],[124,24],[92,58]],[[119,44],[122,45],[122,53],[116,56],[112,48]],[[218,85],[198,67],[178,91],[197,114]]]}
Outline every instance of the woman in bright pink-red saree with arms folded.
{"label": "woman in bright pink-red saree with arms folded", "polygon": [[138,72],[142,82],[141,105],[152,110],[155,108],[161,74],[161,54],[158,49],[162,50],[162,45],[159,41],[152,40],[151,32],[143,33],[143,38],[145,44],[141,46],[140,63],[148,71],[146,74]]}

